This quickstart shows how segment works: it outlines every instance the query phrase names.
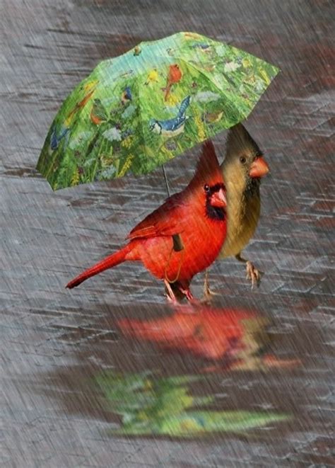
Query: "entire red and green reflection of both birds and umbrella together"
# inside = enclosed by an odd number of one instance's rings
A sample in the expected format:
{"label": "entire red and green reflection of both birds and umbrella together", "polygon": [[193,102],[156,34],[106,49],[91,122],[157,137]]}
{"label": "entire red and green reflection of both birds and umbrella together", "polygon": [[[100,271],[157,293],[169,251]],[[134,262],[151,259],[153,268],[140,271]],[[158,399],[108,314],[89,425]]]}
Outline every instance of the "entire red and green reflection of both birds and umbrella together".
{"label": "entire red and green reflection of both birds and umbrella together", "polygon": [[[241,433],[290,418],[289,413],[275,411],[221,411],[213,387],[208,388],[216,371],[269,370],[300,363],[266,353],[271,341],[267,319],[247,311],[187,305],[165,318],[121,319],[117,325],[132,340],[193,354],[205,358],[208,365],[194,374],[172,377],[162,372],[124,370],[96,375],[105,404],[121,420],[112,433],[187,438],[219,431]],[[206,391],[203,387],[197,396],[194,385],[201,382],[206,382]]]}

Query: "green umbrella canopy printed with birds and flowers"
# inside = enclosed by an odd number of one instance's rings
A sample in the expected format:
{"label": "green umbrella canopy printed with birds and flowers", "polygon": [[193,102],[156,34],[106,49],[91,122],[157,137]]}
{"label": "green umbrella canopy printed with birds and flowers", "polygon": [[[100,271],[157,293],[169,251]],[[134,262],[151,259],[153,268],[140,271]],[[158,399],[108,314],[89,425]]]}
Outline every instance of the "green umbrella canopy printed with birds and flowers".
{"label": "green umbrella canopy printed with birds and flowers", "polygon": [[100,62],[52,122],[37,169],[54,190],[146,174],[247,118],[278,68],[196,33]]}

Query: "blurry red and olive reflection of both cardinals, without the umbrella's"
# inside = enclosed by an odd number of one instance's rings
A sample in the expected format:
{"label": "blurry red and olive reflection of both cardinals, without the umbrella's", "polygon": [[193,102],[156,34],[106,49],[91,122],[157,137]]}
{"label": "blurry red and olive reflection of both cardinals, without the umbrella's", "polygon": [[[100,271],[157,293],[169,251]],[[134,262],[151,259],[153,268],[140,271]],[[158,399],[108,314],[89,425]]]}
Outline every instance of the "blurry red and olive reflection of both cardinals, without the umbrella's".
{"label": "blurry red and olive reflection of both cardinals, without the umbrella's", "polygon": [[189,351],[220,364],[206,367],[211,372],[225,369],[253,370],[290,367],[298,360],[279,360],[266,353],[271,336],[269,320],[254,312],[212,307],[177,307],[163,319],[117,322],[125,336],[152,341],[168,350]]}

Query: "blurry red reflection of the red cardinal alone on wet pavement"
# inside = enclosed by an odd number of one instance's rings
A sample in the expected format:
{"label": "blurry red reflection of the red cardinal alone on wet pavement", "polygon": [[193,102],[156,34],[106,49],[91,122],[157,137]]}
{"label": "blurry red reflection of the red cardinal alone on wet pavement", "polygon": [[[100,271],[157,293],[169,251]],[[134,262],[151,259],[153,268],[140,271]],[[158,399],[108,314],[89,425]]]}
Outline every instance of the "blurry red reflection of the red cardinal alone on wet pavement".
{"label": "blurry red reflection of the red cardinal alone on wet pavement", "polygon": [[[242,341],[246,320],[257,321],[257,315],[247,311],[187,306],[163,319],[124,319],[117,324],[126,336],[152,341],[163,348],[188,350],[208,359],[221,359],[245,348],[246,343]],[[260,319],[259,323],[264,327],[264,321]]]}

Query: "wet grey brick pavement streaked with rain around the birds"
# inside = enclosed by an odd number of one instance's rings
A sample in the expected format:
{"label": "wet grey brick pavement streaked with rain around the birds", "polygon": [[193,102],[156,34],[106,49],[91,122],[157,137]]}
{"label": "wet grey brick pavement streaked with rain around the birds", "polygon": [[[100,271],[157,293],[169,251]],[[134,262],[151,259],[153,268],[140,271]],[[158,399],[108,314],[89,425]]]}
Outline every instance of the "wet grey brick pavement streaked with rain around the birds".
{"label": "wet grey brick pavement streaked with rain around the birds", "polygon": [[[1,466],[334,466],[331,1],[3,6]],[[234,324],[224,346],[214,340],[216,359],[206,357],[213,344],[206,310],[188,341],[162,346],[151,324],[150,339],[140,336],[143,321],[177,326],[186,312],[170,309],[160,283],[139,266],[64,289],[163,201],[161,172],[53,193],[34,169],[59,104],[100,59],[177,30],[215,36],[281,67],[247,122],[271,166],[245,252],[265,275],[251,291],[233,259],[211,269],[221,294],[217,324]],[[215,139],[218,152],[223,141]],[[173,191],[193,169],[191,157],[167,165]],[[196,295],[202,281],[194,280]],[[141,388],[129,387],[134,375]],[[155,411],[139,414],[140,394]],[[221,430],[211,430],[214,412]]]}

